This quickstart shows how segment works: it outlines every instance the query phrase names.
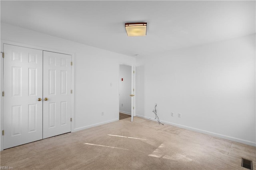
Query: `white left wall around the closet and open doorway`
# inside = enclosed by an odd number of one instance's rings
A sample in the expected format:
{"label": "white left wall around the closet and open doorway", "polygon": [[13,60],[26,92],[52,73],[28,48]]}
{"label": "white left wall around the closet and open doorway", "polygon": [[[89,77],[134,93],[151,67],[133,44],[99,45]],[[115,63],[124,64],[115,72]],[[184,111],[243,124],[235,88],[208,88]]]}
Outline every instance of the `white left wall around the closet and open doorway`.
{"label": "white left wall around the closet and open doorway", "polygon": [[119,65],[134,65],[134,57],[3,23],[1,40],[74,53],[74,131],[118,120]]}

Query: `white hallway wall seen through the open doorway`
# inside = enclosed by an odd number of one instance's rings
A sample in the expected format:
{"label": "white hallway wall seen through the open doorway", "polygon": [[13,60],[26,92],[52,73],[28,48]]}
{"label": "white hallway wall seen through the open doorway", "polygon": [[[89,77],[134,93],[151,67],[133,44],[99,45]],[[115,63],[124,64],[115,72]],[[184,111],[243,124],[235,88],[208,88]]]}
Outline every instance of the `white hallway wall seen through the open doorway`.
{"label": "white hallway wall seen through the open doorway", "polygon": [[[121,80],[123,78],[123,81]],[[120,65],[119,75],[119,111],[131,115],[132,66]],[[123,105],[122,105],[123,104]]]}

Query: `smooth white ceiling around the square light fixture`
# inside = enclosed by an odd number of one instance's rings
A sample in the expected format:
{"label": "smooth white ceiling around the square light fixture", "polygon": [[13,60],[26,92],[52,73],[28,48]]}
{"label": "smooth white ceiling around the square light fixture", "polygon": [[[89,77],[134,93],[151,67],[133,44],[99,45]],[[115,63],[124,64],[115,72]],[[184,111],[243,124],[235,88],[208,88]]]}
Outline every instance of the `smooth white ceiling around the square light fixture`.
{"label": "smooth white ceiling around the square light fixture", "polygon": [[[1,22],[146,56],[255,34],[255,1],[2,1]],[[147,22],[128,37],[126,22]]]}

